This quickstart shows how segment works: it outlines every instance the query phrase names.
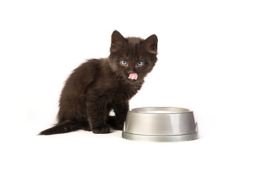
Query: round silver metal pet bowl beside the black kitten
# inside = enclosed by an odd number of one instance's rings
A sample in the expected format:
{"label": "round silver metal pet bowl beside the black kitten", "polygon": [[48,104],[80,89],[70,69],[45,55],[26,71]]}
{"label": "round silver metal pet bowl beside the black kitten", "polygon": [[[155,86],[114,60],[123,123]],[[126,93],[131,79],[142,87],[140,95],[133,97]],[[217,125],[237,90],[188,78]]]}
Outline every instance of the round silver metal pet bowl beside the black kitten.
{"label": "round silver metal pet bowl beside the black kitten", "polygon": [[128,111],[122,137],[149,142],[178,142],[198,138],[193,111],[186,108],[134,108]]}

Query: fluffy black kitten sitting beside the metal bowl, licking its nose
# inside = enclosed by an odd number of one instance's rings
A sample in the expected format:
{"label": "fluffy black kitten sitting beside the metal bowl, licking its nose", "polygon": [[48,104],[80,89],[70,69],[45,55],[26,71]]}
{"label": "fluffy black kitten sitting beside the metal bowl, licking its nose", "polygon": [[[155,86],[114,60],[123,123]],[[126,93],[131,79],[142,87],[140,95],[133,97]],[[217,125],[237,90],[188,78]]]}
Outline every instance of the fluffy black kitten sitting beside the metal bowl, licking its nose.
{"label": "fluffy black kitten sitting beside the metal bowl, licking its nose", "polygon": [[[129,100],[142,88],[156,63],[157,37],[124,38],[112,33],[110,56],[92,59],[73,70],[60,95],[58,123],[40,135],[74,130],[108,133],[122,130]],[[115,116],[110,116],[114,110]]]}

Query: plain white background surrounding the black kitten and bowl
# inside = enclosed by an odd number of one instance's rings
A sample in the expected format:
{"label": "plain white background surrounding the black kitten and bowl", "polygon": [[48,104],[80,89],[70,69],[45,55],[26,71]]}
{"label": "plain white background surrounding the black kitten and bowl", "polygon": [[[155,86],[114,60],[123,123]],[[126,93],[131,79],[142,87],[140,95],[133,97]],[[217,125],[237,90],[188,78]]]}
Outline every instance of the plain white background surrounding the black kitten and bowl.
{"label": "plain white background surrounding the black kitten and bowl", "polygon": [[[256,169],[254,1],[0,1],[1,169]],[[190,108],[200,139],[134,142],[121,131],[38,136],[68,74],[107,57],[113,30],[159,38],[130,108]]]}

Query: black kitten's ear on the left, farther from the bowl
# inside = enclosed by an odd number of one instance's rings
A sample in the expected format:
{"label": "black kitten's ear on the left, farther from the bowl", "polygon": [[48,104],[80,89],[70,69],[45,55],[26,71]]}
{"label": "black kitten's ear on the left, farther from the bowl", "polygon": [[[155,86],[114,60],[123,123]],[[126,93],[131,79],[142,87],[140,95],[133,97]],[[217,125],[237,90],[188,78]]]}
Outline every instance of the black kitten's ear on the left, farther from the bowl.
{"label": "black kitten's ear on the left, farther from the bowl", "polygon": [[117,30],[114,30],[114,32],[112,33],[110,52],[117,51],[125,44],[125,42],[125,38]]}

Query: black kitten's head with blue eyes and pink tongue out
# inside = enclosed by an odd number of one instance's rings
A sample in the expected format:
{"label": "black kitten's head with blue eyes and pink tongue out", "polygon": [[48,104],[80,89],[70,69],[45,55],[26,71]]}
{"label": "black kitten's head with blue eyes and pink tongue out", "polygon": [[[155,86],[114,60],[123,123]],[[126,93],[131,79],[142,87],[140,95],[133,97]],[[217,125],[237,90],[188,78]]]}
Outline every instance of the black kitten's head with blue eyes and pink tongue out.
{"label": "black kitten's head with blue eyes and pink tongue out", "polygon": [[110,57],[112,70],[130,83],[143,81],[156,64],[157,37],[124,38],[117,30],[112,33]]}

